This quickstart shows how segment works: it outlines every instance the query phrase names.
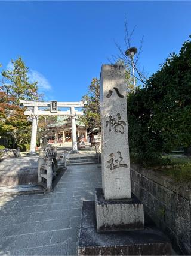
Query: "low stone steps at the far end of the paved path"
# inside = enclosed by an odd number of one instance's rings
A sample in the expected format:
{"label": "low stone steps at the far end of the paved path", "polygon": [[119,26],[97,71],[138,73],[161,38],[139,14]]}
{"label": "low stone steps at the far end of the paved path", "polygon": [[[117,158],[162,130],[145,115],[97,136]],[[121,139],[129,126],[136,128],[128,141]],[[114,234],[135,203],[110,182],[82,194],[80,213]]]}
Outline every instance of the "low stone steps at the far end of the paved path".
{"label": "low stone steps at the far end of the paved path", "polygon": [[82,164],[98,164],[98,157],[94,156],[71,156],[67,158],[67,166],[69,165],[82,165]]}

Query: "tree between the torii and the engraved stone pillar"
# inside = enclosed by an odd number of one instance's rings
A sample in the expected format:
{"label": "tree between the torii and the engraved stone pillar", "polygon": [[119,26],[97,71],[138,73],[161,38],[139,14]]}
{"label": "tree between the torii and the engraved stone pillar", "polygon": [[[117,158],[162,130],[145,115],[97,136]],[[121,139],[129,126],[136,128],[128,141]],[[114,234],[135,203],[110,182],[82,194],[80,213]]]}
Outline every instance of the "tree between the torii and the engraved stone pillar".
{"label": "tree between the torii and the engraved stone pillar", "polygon": [[100,127],[100,80],[93,78],[91,85],[88,86],[88,93],[82,97],[83,101],[87,101],[83,111],[82,122],[90,130]]}

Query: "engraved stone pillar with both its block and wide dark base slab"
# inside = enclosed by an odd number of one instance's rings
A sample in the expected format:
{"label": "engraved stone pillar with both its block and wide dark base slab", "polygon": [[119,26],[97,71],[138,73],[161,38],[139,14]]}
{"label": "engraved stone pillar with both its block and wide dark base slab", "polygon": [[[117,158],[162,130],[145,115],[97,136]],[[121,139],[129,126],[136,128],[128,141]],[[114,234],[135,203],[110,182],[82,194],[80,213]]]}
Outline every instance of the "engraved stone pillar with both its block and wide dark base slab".
{"label": "engraved stone pillar with both its block and wide dark base slab", "polygon": [[159,230],[144,227],[143,204],[131,195],[124,65],[101,68],[102,188],[83,203],[78,255],[171,255]]}

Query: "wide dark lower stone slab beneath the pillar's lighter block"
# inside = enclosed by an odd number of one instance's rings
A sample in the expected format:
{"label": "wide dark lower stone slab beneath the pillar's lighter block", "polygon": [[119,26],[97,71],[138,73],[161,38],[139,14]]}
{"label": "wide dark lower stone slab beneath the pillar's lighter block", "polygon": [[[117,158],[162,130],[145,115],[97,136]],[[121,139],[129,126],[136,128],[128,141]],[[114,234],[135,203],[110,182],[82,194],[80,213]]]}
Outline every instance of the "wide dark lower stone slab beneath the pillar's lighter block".
{"label": "wide dark lower stone slab beneath the pillar's lighter block", "polygon": [[97,232],[95,202],[84,201],[78,255],[171,255],[171,243],[153,226]]}

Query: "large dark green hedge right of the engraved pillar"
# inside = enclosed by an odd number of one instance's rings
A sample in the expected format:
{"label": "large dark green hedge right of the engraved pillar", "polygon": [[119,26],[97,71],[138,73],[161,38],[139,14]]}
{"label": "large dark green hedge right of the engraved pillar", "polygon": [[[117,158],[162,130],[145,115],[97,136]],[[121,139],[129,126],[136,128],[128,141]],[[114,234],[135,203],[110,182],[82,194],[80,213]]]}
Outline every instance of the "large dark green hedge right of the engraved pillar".
{"label": "large dark green hedge right of the engraved pillar", "polygon": [[140,162],[191,144],[191,42],[128,95],[130,152]]}

